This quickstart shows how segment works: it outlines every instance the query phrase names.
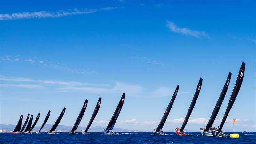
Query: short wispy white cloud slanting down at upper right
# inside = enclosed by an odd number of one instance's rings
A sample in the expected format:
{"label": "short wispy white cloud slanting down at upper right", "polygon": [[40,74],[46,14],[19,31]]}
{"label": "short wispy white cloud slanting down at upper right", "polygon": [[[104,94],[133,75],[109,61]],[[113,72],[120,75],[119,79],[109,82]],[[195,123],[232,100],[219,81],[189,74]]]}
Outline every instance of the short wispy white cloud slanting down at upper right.
{"label": "short wispy white cloud slanting down at upper right", "polygon": [[206,37],[209,38],[209,36],[204,31],[197,31],[197,30],[190,30],[188,28],[179,28],[177,27],[173,22],[168,21],[166,23],[166,26],[173,32],[188,35],[188,36],[194,36],[196,38],[200,37]]}

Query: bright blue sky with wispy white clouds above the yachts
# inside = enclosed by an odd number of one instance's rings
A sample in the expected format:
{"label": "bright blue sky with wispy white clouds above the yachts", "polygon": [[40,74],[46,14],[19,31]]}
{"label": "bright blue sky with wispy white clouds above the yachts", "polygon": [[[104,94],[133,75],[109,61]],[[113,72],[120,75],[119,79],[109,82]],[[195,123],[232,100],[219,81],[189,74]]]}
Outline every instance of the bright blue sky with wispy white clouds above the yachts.
{"label": "bright blue sky with wispy white clouds above the yachts", "polygon": [[[204,127],[225,84],[219,126],[238,71],[243,84],[223,130],[256,131],[255,1],[0,1],[0,124],[41,113],[41,125],[106,127],[122,93],[115,127],[152,131],[180,89],[163,131],[181,127],[199,78],[201,92],[185,130]],[[103,131],[103,130],[102,130]],[[115,131],[115,129],[114,129]]]}

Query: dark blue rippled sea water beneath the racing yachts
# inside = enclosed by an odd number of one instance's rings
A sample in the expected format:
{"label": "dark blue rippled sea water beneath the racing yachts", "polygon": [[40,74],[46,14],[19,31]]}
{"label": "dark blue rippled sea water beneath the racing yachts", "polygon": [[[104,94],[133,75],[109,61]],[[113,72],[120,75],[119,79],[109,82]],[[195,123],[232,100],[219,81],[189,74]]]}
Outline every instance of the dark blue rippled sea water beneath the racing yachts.
{"label": "dark blue rippled sea water beneath the racing yachts", "polygon": [[0,143],[256,143],[256,132],[237,133],[240,138],[203,137],[200,132],[189,132],[188,136],[176,136],[174,132],[162,136],[153,135],[153,132],[124,132],[122,135],[102,135],[100,132],[91,135],[0,133]]}

